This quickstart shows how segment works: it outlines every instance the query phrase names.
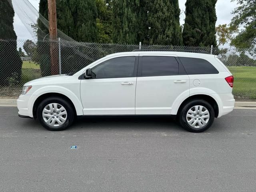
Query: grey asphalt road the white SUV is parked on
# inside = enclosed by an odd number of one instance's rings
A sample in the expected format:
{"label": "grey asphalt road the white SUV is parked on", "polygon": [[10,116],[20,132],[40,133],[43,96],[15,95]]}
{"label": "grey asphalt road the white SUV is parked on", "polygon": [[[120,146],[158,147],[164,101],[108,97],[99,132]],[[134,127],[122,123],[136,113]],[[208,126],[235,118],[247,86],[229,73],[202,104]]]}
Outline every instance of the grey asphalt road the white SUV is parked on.
{"label": "grey asphalt road the white SUV is parked on", "polygon": [[50,132],[17,112],[0,107],[0,192],[256,189],[256,110],[197,134],[168,118],[85,118]]}

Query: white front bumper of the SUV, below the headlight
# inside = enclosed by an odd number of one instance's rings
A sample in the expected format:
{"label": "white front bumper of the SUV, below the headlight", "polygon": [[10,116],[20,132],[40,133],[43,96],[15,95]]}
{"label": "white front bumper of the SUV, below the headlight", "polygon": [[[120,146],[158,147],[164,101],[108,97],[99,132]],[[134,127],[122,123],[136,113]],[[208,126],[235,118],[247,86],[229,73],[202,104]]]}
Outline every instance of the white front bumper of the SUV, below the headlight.
{"label": "white front bumper of the SUV, below the headlight", "polygon": [[20,95],[17,99],[17,107],[19,116],[27,116],[33,118],[33,95]]}

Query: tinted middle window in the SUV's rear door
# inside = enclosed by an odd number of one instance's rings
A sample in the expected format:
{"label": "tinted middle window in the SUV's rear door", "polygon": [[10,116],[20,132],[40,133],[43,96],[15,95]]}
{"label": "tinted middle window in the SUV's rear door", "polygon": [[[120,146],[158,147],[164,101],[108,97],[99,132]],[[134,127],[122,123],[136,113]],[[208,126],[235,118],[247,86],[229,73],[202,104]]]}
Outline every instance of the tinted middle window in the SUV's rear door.
{"label": "tinted middle window in the SUV's rear door", "polygon": [[179,64],[174,57],[142,56],[142,76],[165,76],[178,74]]}

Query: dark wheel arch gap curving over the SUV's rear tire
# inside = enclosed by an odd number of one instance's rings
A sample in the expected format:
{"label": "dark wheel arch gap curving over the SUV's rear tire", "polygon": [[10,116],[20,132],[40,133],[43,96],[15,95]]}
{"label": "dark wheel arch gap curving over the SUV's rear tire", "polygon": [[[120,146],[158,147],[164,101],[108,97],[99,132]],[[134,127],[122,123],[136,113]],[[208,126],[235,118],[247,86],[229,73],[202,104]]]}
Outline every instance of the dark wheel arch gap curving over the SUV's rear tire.
{"label": "dark wheel arch gap curving over the SUV's rear tire", "polygon": [[202,100],[205,100],[207,101],[208,103],[210,103],[210,105],[213,107],[214,109],[214,116],[217,118],[218,117],[218,114],[219,114],[219,106],[218,106],[218,103],[216,102],[216,100],[209,96],[209,95],[204,95],[204,94],[197,94],[197,95],[192,95],[188,98],[186,98],[179,106],[178,108],[178,112],[177,112],[177,115],[180,114],[180,110],[182,110],[183,106],[186,105],[186,103],[192,101],[192,100],[196,100],[196,99],[202,99]]}

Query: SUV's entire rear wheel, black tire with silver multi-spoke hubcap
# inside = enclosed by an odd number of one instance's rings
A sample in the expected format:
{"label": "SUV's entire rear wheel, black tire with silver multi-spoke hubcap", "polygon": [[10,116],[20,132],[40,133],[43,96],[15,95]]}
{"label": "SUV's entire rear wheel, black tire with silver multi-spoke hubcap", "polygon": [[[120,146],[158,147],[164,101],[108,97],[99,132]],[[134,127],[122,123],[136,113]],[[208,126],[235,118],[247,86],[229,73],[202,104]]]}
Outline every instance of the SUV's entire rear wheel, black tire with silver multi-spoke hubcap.
{"label": "SUV's entire rear wheel, black tire with silver multi-spoke hubcap", "polygon": [[214,121],[214,109],[205,100],[192,100],[182,107],[179,121],[190,132],[203,132]]}

